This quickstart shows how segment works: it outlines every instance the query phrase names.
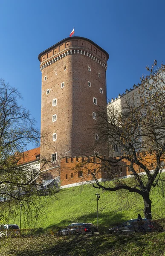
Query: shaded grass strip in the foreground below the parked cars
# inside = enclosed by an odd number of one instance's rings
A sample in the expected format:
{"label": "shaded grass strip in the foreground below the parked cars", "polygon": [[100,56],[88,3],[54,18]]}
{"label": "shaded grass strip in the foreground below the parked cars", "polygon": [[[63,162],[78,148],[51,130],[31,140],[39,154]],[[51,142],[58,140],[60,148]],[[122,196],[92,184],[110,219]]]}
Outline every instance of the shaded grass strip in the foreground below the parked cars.
{"label": "shaded grass strip in the foreground below the parked cars", "polygon": [[163,256],[165,232],[0,239],[0,256]]}

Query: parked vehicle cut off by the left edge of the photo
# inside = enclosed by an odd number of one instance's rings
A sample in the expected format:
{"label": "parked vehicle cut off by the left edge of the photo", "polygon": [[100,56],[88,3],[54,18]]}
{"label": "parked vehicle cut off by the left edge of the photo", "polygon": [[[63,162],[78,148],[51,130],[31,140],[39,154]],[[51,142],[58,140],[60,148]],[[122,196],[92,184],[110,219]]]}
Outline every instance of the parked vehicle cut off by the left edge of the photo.
{"label": "parked vehicle cut off by the left edge of the photo", "polygon": [[0,225],[0,237],[14,237],[19,234],[20,230],[16,224]]}

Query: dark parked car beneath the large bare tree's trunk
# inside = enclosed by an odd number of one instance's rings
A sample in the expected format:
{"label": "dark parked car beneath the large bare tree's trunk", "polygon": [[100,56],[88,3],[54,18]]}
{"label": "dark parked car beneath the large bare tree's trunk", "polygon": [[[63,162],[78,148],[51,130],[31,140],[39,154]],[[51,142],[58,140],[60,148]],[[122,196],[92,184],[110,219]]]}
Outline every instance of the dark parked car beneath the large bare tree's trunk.
{"label": "dark parked car beneath the large bare tree's trunk", "polygon": [[162,231],[163,227],[154,220],[143,218],[142,221],[131,219],[124,222],[120,226],[110,228],[110,233],[131,233],[131,232],[146,232],[146,231]]}

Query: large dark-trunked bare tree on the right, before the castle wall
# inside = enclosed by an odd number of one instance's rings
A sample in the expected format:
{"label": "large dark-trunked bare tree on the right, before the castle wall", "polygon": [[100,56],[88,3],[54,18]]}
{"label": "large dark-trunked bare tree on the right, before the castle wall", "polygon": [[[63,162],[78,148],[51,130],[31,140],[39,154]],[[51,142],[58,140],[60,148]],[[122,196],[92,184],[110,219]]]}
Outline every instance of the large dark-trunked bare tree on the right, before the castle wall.
{"label": "large dark-trunked bare tree on the right, before the castle wall", "polygon": [[[119,100],[100,108],[95,133],[99,140],[108,141],[109,156],[96,157],[101,160],[98,172],[106,171],[111,183],[100,183],[90,169],[96,183],[93,187],[107,191],[123,190],[137,193],[144,201],[145,218],[151,219],[151,190],[163,189],[165,181],[165,65],[157,67],[156,61],[149,75],[141,78],[135,86]],[[108,114],[107,114],[108,113]],[[91,161],[91,158],[90,158]],[[79,164],[85,168],[88,163]],[[121,168],[127,168],[130,180],[120,179]]]}

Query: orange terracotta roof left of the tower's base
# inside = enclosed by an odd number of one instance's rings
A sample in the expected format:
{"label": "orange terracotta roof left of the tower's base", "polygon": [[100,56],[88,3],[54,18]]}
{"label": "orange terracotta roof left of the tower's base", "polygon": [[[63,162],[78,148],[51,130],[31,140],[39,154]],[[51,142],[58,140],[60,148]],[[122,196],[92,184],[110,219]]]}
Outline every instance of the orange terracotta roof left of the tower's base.
{"label": "orange terracotta roof left of the tower's base", "polygon": [[21,157],[18,164],[31,163],[36,160],[40,160],[40,147],[23,152],[23,157]]}

